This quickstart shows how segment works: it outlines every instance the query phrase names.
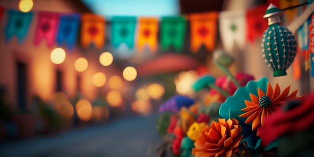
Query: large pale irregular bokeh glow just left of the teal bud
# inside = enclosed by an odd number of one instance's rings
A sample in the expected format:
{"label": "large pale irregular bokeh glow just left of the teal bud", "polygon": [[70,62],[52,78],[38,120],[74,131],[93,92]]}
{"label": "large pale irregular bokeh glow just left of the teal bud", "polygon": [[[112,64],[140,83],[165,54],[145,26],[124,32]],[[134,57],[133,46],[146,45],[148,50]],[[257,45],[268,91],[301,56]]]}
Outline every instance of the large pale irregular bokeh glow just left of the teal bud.
{"label": "large pale irregular bokeh glow just left of the teal bud", "polygon": [[175,78],[176,90],[182,95],[193,94],[192,84],[197,80],[198,74],[194,70],[183,71]]}

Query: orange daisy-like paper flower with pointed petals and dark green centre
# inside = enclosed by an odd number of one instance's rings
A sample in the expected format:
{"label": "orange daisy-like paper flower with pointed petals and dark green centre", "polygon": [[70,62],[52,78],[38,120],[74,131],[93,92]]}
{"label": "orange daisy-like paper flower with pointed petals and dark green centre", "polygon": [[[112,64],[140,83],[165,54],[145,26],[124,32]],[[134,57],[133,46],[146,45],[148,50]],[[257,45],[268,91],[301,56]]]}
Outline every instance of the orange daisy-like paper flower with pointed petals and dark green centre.
{"label": "orange daisy-like paper flower with pointed petals and dark green centre", "polygon": [[[247,118],[245,123],[252,122],[252,130],[260,125],[264,125],[264,119],[272,114],[282,102],[289,98],[300,99],[303,96],[296,96],[297,90],[294,90],[289,96],[290,86],[286,87],[281,93],[279,85],[276,83],[273,90],[268,82],[266,94],[258,88],[258,97],[250,93],[251,101],[244,100],[246,107],[241,109],[246,111],[239,117]],[[258,133],[258,132],[257,132]]]}

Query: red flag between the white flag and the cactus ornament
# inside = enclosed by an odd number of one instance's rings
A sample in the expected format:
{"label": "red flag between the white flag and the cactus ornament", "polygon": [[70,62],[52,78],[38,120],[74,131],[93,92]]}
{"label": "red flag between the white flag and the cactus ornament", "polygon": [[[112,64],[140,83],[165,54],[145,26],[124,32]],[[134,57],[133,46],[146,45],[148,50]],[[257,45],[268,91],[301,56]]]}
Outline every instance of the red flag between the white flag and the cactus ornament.
{"label": "red flag between the white flag and the cactus ornament", "polygon": [[267,29],[267,21],[263,19],[266,5],[260,5],[246,11],[247,40],[254,43],[256,38],[261,38]]}

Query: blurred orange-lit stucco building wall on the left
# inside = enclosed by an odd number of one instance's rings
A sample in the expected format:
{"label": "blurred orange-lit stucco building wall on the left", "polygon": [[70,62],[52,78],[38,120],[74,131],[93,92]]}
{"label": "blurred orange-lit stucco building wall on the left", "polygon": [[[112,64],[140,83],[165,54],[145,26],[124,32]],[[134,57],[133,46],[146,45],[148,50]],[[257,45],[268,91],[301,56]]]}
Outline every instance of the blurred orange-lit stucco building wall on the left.
{"label": "blurred orange-lit stucco building wall on the left", "polygon": [[[5,8],[17,9],[19,0],[0,1],[0,5]],[[63,0],[34,1],[32,11],[53,11],[62,13],[81,13],[82,10],[75,4],[70,5]],[[50,60],[50,53],[54,48],[47,47],[45,40],[39,46],[34,46],[34,36],[36,31],[38,16],[33,16],[26,40],[19,44],[16,37],[10,42],[5,41],[4,32],[8,21],[8,14],[3,14],[0,23],[0,86],[7,90],[7,101],[16,108],[17,106],[17,62],[22,62],[28,66],[27,79],[27,103],[31,102],[31,97],[39,95],[44,100],[49,100],[56,91],[56,71],[63,72],[64,92],[73,98],[77,89],[77,76],[81,78],[81,92],[85,98],[93,100],[98,96],[98,92],[105,93],[108,90],[108,79],[112,75],[121,76],[121,70],[115,65],[103,67],[98,61],[100,53],[106,48],[97,50],[94,46],[85,49],[76,46],[73,52],[67,51],[65,46],[61,48],[66,51],[66,59],[62,64],[56,65]],[[79,36],[78,36],[79,37]],[[78,45],[78,43],[77,43]],[[77,72],[74,69],[74,62],[79,57],[88,60],[88,68],[84,72]],[[92,84],[92,75],[96,72],[104,72],[107,82],[104,87],[97,88]]]}

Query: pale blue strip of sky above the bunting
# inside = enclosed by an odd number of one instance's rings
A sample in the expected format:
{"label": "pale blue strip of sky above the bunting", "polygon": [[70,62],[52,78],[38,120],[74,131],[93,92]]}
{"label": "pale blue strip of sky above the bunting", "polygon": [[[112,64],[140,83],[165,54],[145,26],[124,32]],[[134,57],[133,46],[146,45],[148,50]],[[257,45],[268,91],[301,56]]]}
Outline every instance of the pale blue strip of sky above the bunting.
{"label": "pale blue strip of sky above the bunting", "polygon": [[95,14],[112,16],[177,16],[179,0],[82,0]]}

